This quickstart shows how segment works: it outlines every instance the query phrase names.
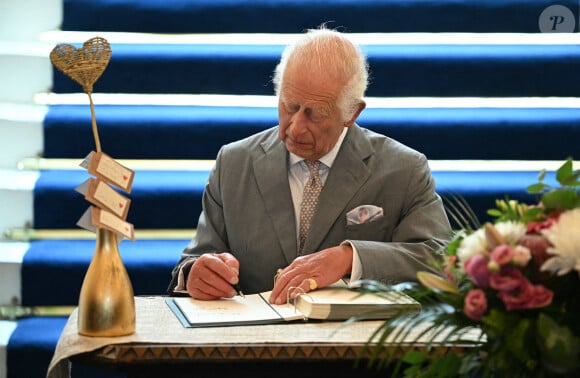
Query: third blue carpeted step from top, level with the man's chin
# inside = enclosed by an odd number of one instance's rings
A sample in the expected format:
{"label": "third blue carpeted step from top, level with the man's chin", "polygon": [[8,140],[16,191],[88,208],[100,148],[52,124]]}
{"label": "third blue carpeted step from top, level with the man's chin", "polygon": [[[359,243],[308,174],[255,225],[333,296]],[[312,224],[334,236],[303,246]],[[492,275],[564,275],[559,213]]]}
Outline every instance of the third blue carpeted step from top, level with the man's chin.
{"label": "third blue carpeted step from top, level with the man's chin", "polygon": [[[222,145],[277,124],[273,107],[97,105],[95,113],[103,151],[116,159],[214,159]],[[88,105],[50,106],[44,157],[81,159],[93,150],[90,116]],[[574,107],[368,108],[358,123],[431,160],[580,155]]]}

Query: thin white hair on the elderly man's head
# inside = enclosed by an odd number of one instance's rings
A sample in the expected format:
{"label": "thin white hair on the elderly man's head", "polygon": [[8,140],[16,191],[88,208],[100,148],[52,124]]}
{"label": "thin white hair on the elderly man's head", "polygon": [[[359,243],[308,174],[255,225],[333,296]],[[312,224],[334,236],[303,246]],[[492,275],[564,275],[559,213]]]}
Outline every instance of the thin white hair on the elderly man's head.
{"label": "thin white hair on the elderly man's head", "polygon": [[337,106],[344,121],[352,118],[363,100],[369,80],[367,59],[358,46],[343,33],[324,26],[308,30],[294,44],[284,49],[274,70],[272,81],[278,97],[290,60],[306,66],[314,65],[330,77],[344,82]]}

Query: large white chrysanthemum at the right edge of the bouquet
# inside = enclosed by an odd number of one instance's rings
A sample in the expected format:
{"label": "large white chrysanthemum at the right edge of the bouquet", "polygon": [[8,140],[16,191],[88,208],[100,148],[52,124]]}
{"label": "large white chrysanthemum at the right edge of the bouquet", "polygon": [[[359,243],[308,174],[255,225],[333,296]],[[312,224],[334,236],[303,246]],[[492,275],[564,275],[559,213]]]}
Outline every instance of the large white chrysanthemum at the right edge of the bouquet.
{"label": "large white chrysanthemum at the right edge of the bouquet", "polygon": [[547,260],[541,270],[558,275],[573,269],[580,272],[580,208],[562,213],[558,222],[542,230],[542,234],[553,245],[547,252],[556,256]]}

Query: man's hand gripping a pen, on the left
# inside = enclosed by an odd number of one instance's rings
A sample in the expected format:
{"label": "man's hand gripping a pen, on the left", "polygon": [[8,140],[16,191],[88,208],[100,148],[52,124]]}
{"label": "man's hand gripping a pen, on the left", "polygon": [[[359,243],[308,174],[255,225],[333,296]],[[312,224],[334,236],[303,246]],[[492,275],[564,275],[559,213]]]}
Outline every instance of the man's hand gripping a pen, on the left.
{"label": "man's hand gripping a pen, on the left", "polygon": [[225,253],[206,253],[191,266],[187,276],[187,292],[192,298],[212,300],[237,295],[232,287],[238,283],[240,263]]}

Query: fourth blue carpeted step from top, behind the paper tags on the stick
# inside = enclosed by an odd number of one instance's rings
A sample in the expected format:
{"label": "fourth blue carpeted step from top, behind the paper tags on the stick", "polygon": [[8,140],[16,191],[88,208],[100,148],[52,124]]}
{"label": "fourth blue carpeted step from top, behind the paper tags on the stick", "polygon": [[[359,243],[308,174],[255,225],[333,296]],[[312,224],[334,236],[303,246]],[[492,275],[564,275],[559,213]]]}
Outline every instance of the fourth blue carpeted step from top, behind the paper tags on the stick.
{"label": "fourth blue carpeted step from top, behind the paper tags on the stick", "polygon": [[[495,199],[509,196],[533,202],[525,193],[537,180],[531,171],[434,171],[437,190],[463,196],[481,220]],[[136,229],[194,229],[201,213],[201,196],[208,171],[138,171],[135,174],[128,220]],[[88,207],[74,188],[86,178],[84,171],[44,171],[37,181],[34,227],[74,228]]]}

